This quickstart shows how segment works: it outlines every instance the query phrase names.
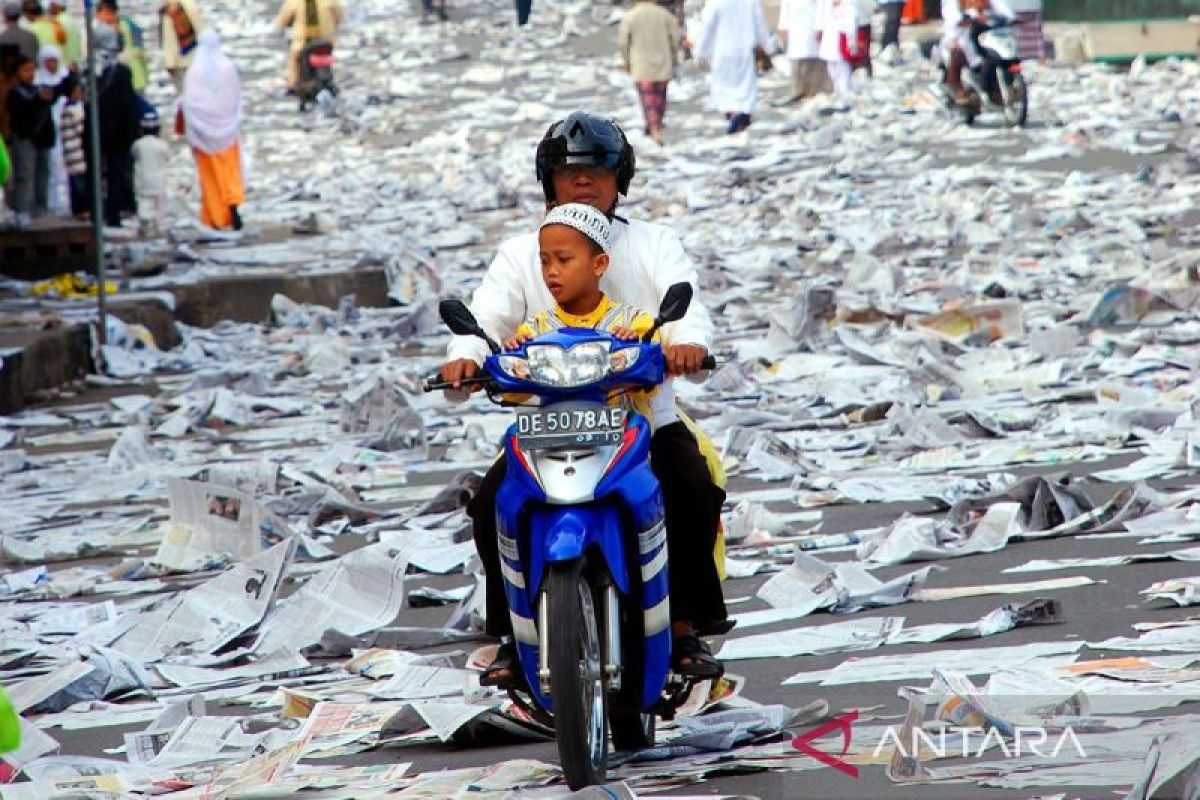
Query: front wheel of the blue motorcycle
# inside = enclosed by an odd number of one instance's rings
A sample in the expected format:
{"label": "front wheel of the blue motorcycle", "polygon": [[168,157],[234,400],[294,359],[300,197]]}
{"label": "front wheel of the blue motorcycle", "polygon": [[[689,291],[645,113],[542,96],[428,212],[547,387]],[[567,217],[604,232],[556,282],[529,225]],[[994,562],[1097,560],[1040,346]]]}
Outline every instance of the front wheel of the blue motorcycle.
{"label": "front wheel of the blue motorcycle", "polygon": [[546,604],[558,758],[568,786],[581,789],[604,783],[608,738],[598,603],[578,561],[551,567]]}

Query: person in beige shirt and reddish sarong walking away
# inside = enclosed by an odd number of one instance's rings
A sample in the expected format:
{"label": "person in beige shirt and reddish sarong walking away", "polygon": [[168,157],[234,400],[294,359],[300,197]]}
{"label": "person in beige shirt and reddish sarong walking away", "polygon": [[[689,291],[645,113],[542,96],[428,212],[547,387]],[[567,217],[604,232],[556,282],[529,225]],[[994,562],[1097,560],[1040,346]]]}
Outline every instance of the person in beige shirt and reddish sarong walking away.
{"label": "person in beige shirt and reddish sarong walking away", "polygon": [[646,133],[662,144],[662,118],[667,110],[667,84],[674,76],[679,52],[679,25],[655,0],[635,0],[617,32],[624,68],[634,78],[642,102]]}

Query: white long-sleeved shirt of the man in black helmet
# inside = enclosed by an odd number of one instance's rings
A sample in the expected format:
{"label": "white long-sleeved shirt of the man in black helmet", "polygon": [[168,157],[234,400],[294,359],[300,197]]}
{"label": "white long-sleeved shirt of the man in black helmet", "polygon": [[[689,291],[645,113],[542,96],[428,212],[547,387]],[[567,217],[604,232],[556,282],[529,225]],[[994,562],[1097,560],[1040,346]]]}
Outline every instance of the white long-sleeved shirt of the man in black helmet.
{"label": "white long-sleeved shirt of the man in black helmet", "polygon": [[[696,295],[688,313],[679,321],[662,326],[662,341],[712,350],[713,320],[700,301],[696,267],[673,230],[653,222],[614,219],[608,252],[611,261],[600,278],[600,289],[614,302],[654,314],[672,284],[690,283]],[[497,342],[512,336],[529,317],[554,307],[554,297],[541,277],[536,233],[502,242],[470,299],[470,312]],[[450,341],[451,361],[470,359],[482,363],[487,355],[482,339],[456,336]]]}

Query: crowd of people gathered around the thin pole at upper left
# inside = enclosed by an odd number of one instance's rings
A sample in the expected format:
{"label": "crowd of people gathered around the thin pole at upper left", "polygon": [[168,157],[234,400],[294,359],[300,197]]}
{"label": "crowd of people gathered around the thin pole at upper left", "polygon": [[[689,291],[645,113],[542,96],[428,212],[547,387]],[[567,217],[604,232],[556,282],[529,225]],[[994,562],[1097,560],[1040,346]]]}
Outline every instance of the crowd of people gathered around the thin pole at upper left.
{"label": "crowd of people gathered around the thin pole at upper left", "polygon": [[[305,4],[299,4],[301,8]],[[97,113],[85,100],[84,36],[58,0],[10,0],[0,32],[0,227],[24,229],[35,217],[86,219],[101,187],[103,224],[136,218],[142,235],[162,231],[168,215],[170,145],[146,97],[151,76],[145,36],[118,0],[96,4],[90,37]],[[176,95],[176,136],[191,146],[200,186],[200,222],[240,229],[244,201],[241,90],[233,62],[205,30],[192,0],[158,10],[162,65]],[[98,158],[90,146],[92,127]]]}

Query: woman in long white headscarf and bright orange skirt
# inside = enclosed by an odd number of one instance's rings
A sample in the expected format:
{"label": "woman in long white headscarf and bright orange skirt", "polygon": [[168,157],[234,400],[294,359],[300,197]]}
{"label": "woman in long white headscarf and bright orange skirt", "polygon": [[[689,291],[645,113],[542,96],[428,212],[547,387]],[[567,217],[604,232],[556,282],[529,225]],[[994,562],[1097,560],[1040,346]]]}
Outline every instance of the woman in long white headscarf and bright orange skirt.
{"label": "woman in long white headscarf and bright orange skirt", "polygon": [[241,80],[211,28],[199,35],[196,56],[184,77],[180,108],[200,175],[200,222],[240,230],[238,206],[246,199],[239,144]]}

